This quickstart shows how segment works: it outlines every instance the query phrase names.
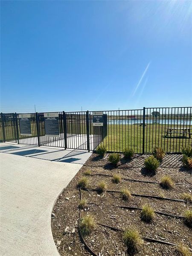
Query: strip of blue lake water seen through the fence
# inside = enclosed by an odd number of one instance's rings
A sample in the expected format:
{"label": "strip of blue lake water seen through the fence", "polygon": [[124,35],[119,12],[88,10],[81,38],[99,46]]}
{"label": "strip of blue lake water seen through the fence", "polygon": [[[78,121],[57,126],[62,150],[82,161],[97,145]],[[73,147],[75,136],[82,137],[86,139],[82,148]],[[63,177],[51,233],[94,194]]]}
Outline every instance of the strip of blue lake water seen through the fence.
{"label": "strip of blue lake water seen through the fence", "polygon": [[[169,121],[169,122],[168,122]],[[163,125],[173,125],[174,126],[174,122],[175,122],[175,126],[177,126],[177,124],[178,125],[192,125],[192,120],[191,120],[191,122],[190,122],[190,120],[178,120],[178,122],[177,122],[177,119],[176,120],[174,120],[174,119],[161,119],[161,120],[157,120],[157,122],[156,122],[156,120],[145,120],[145,124],[152,124],[152,123],[157,123],[157,124],[163,124]],[[143,119],[129,119],[129,120],[117,120],[117,119],[114,119],[114,120],[110,120],[110,119],[108,119],[108,125],[134,125],[134,124],[140,124],[140,123],[143,123]]]}

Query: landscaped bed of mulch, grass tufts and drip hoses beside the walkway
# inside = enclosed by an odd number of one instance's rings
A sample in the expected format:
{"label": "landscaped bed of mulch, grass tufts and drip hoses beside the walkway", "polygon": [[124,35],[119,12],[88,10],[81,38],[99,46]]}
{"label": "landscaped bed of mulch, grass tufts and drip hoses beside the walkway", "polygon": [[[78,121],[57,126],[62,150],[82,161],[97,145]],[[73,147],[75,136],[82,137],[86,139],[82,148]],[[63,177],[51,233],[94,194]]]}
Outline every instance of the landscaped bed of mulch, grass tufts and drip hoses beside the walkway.
{"label": "landscaped bed of mulch, grass tufts and drip hoses beside the walkway", "polygon": [[[192,227],[184,218],[186,210],[192,210],[192,204],[182,197],[183,193],[192,193],[192,174],[182,167],[181,156],[166,155],[156,172],[150,173],[144,167],[148,155],[135,155],[129,161],[121,155],[116,167],[108,162],[108,157],[108,154],[103,158],[92,154],[58,197],[53,208],[52,234],[59,253],[68,256],[190,255],[179,253],[176,246],[182,243],[192,248]],[[173,168],[174,163],[177,168]],[[160,184],[164,176],[171,177],[172,188],[162,187],[170,181],[166,179]],[[128,200],[123,200],[122,189],[131,193]],[[79,208],[80,197],[82,209]],[[146,221],[146,213],[151,220]],[[85,216],[90,217],[84,219]],[[93,227],[84,235],[83,224],[86,223]],[[126,243],[129,235],[123,233],[126,229],[140,233],[136,250],[131,250],[133,248]]]}

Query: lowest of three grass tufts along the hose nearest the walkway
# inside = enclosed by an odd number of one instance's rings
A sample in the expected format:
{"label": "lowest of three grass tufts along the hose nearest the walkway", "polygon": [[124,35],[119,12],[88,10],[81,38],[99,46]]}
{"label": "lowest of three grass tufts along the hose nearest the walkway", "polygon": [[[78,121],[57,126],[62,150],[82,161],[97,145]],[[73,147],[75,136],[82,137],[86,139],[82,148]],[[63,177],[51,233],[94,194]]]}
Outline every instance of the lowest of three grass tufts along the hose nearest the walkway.
{"label": "lowest of three grass tufts along the hose nearest the walkway", "polygon": [[83,218],[81,218],[80,222],[80,232],[82,236],[89,235],[93,229],[96,226],[95,219],[92,215],[85,215]]}

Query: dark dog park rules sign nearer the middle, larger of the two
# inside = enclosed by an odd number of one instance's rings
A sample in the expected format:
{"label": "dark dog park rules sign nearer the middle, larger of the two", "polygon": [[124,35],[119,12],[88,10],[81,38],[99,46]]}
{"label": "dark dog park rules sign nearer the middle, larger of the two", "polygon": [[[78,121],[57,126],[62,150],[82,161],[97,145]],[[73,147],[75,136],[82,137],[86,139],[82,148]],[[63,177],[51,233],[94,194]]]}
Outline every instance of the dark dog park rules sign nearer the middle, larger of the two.
{"label": "dark dog park rules sign nearer the middle, larger of the two", "polygon": [[55,113],[44,113],[45,136],[59,137],[59,115]]}

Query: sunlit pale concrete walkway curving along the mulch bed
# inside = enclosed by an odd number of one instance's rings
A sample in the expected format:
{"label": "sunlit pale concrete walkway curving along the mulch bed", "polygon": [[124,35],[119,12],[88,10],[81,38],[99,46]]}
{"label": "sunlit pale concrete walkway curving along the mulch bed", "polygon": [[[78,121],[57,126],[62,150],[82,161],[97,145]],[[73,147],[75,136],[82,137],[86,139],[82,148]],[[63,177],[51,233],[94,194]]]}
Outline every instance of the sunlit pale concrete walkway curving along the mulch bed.
{"label": "sunlit pale concrete walkway curving along the mulch bed", "polygon": [[81,166],[0,153],[0,255],[59,255],[52,207]]}

